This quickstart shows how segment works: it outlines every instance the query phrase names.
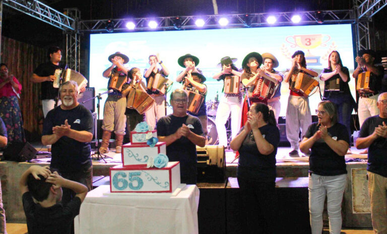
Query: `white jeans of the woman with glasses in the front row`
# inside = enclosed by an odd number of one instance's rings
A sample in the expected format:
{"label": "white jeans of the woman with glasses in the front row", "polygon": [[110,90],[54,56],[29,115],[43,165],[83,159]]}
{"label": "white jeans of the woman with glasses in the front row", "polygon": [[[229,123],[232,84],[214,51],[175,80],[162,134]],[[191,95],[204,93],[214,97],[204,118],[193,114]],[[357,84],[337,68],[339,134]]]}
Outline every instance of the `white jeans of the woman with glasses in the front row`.
{"label": "white jeans of the woman with glasses in the front row", "polygon": [[322,211],[327,196],[327,209],[329,216],[330,234],[340,234],[341,202],[347,184],[347,174],[338,176],[319,176],[309,174],[309,213],[312,234],[322,232]]}

